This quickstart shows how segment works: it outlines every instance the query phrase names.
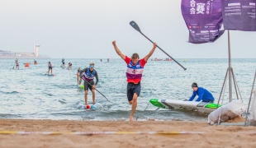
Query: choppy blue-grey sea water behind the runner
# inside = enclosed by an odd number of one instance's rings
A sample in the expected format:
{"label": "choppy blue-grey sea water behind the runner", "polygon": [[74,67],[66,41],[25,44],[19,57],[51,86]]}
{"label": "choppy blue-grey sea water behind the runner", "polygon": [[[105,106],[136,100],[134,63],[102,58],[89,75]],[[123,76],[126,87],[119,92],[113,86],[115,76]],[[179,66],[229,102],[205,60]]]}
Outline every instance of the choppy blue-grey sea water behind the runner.
{"label": "choppy blue-grey sea water behind the runner", "polygon": [[[176,59],[184,71],[174,61],[149,61],[141,81],[141,92],[135,118],[138,120],[181,120],[206,121],[207,114],[192,110],[158,109],[149,104],[149,99],[189,99],[192,82],[210,90],[216,101],[224,84],[229,67],[228,59]],[[65,59],[66,67],[61,67],[61,58],[19,59],[20,70],[14,70],[15,59],[0,59],[0,118],[18,119],[68,119],[68,120],[129,120],[131,106],[126,97],[126,62],[121,58],[110,59]],[[53,64],[55,76],[48,76],[48,62]],[[29,62],[30,67],[23,63]],[[72,62],[71,70],[67,69]],[[77,70],[95,62],[99,76],[96,91],[97,109],[85,110],[84,91],[77,88]],[[249,103],[254,81],[256,59],[232,59],[235,81],[244,104]],[[228,77],[227,77],[228,79]],[[229,102],[229,83],[225,83],[224,104]],[[100,93],[99,93],[100,92]],[[102,94],[102,95],[101,95]],[[104,97],[104,96],[106,97]],[[232,86],[232,98],[236,99]],[[109,99],[110,102],[107,101]],[[222,100],[222,96],[220,98]],[[88,102],[92,103],[92,92],[88,92]]]}

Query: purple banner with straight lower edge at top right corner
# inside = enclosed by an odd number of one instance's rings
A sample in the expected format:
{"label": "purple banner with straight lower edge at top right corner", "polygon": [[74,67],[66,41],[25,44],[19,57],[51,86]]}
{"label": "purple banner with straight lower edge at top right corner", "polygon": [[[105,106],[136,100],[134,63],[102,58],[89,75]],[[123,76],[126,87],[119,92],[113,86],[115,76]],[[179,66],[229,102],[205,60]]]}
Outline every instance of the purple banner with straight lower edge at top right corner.
{"label": "purple banner with straight lower edge at top right corner", "polygon": [[256,0],[221,0],[225,30],[256,31]]}

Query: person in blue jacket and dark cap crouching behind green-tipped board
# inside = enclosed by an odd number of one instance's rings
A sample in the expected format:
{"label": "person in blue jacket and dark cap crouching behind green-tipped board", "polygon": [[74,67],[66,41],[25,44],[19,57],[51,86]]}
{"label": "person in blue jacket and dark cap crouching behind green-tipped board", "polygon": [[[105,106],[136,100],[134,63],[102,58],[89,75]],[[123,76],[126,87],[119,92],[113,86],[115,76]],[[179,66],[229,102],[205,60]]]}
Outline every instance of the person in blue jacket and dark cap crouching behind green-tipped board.
{"label": "person in blue jacket and dark cap crouching behind green-tipped board", "polygon": [[208,90],[202,88],[202,87],[198,87],[197,83],[192,83],[192,89],[193,89],[193,94],[190,97],[190,99],[188,99],[188,101],[192,101],[196,95],[198,95],[198,98],[196,99],[196,101],[202,101],[202,102],[210,102],[213,103],[214,102],[214,97],[213,95],[211,95],[211,92],[209,92]]}

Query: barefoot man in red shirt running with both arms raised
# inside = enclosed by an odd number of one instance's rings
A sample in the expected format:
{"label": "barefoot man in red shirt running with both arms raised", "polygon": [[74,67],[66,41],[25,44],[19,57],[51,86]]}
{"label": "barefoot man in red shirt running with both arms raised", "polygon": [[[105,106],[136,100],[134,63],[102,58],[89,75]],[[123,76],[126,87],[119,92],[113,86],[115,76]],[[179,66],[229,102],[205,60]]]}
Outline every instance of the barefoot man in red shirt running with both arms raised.
{"label": "barefoot man in red shirt running with both arms raised", "polygon": [[112,42],[116,53],[125,60],[127,64],[126,77],[127,77],[127,99],[129,104],[131,104],[131,113],[130,113],[130,121],[133,121],[133,116],[135,113],[135,109],[137,107],[137,99],[140,95],[140,81],[142,77],[142,72],[144,70],[145,64],[150,58],[150,56],[154,53],[157,44],[153,44],[153,49],[145,56],[145,58],[139,57],[138,53],[133,53],[131,58],[128,58],[125,54],[121,53],[121,51],[116,46],[116,41]]}

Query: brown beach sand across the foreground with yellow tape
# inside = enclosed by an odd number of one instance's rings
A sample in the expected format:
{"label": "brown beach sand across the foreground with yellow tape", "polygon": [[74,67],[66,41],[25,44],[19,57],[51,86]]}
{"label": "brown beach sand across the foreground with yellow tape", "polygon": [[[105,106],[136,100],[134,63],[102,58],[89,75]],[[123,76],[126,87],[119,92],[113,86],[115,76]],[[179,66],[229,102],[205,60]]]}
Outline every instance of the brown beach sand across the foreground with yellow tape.
{"label": "brown beach sand across the foreground with yellow tape", "polygon": [[[240,119],[233,122],[241,122]],[[229,122],[232,123],[232,122]],[[73,121],[0,119],[0,131],[61,132],[0,134],[0,147],[255,147],[256,127],[184,121]],[[64,133],[69,132],[69,133]],[[114,132],[73,135],[73,132]],[[124,132],[119,133],[117,132]],[[129,132],[145,132],[135,134]],[[149,134],[149,132],[178,132]],[[179,133],[196,132],[196,133]],[[203,133],[197,133],[203,132]]]}

